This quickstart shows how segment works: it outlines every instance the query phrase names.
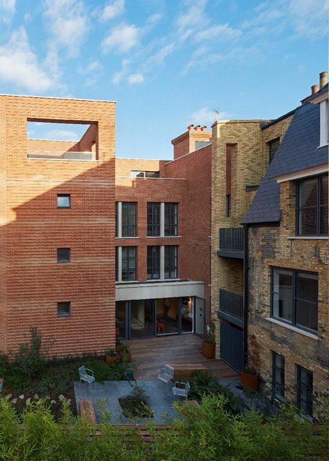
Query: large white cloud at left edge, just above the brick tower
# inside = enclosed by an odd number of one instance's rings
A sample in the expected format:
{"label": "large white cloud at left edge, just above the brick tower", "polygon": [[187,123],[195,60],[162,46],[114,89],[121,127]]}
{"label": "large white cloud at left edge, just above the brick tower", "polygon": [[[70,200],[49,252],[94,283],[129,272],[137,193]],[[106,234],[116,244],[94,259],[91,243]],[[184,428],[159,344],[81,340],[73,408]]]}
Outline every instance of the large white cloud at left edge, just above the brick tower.
{"label": "large white cloud at left edge, just above the brick tower", "polygon": [[10,41],[0,46],[0,80],[36,93],[54,85],[38,63],[37,55],[30,50],[24,28],[13,32]]}

